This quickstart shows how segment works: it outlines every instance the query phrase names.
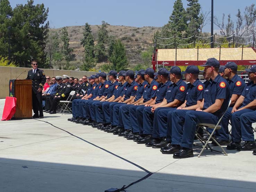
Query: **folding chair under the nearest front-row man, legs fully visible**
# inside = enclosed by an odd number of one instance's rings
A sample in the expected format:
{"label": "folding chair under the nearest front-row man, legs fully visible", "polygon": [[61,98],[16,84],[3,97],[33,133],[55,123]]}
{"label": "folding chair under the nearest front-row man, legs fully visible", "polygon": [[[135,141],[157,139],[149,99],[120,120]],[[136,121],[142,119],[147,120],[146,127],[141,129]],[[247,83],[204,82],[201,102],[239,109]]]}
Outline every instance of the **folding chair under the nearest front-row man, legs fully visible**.
{"label": "folding chair under the nearest front-row man, legs fully visible", "polygon": [[[203,153],[203,151],[204,151],[205,148],[207,149],[207,146],[211,149],[211,151],[216,151],[216,150],[212,150],[211,146],[209,146],[209,144],[208,144],[208,142],[209,142],[211,139],[221,148],[221,150],[223,151],[223,153],[224,153],[225,155],[228,155],[227,152],[222,148],[222,146],[214,139],[213,134],[215,133],[215,130],[221,129],[221,125],[219,125],[219,124],[220,124],[220,122],[221,122],[221,120],[222,120],[222,117],[223,117],[224,114],[227,112],[227,110],[228,110],[230,104],[231,104],[231,101],[229,101],[229,104],[228,104],[227,109],[225,110],[225,112],[223,113],[223,115],[221,116],[221,118],[219,119],[219,121],[217,122],[217,124],[211,124],[211,123],[198,123],[198,124],[197,124],[199,127],[202,127],[202,128],[205,130],[205,132],[209,135],[209,138],[208,138],[207,141],[205,142],[205,140],[203,140],[203,138],[198,137],[198,136],[197,136],[198,134],[196,133],[196,137],[200,140],[200,142],[203,143],[203,149],[200,151],[200,154],[198,155],[198,157],[200,157],[200,156],[202,155],[202,153]],[[207,128],[210,128],[210,129],[213,129],[213,131],[212,131],[211,134],[207,131],[206,127],[207,127]],[[220,151],[218,151],[218,152],[220,152]]]}

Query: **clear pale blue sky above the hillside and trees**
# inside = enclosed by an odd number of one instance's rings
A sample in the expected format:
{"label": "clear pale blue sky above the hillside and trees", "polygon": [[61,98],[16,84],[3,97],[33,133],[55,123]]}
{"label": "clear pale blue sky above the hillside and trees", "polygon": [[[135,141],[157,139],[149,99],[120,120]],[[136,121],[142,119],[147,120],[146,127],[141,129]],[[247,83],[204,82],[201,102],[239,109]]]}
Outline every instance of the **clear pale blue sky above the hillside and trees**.
{"label": "clear pale blue sky above the hillside and trees", "polygon": [[[34,0],[34,3],[44,3],[49,7],[48,20],[52,28],[63,26],[100,25],[104,20],[110,25],[125,26],[155,26],[162,27],[169,20],[175,0]],[[25,4],[26,0],[10,0],[12,7]],[[187,1],[182,0],[187,7]],[[199,0],[203,11],[211,10],[211,0]],[[246,6],[256,3],[255,0],[214,0],[214,16],[219,19],[225,13],[235,21],[237,10],[244,12]],[[215,31],[218,29],[214,25]],[[210,32],[208,24],[203,29]]]}

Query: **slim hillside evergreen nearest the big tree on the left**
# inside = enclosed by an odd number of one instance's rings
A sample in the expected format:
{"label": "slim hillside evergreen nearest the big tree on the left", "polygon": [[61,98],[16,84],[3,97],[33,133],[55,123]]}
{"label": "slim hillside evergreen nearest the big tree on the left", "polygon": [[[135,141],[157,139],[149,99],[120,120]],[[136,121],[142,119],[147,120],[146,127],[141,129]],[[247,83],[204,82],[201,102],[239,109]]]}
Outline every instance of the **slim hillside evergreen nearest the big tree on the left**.
{"label": "slim hillside evergreen nearest the big tree on the left", "polygon": [[63,43],[62,53],[64,55],[65,60],[69,62],[73,58],[73,55],[71,54],[73,49],[69,47],[69,37],[68,37],[68,31],[66,27],[63,27],[61,29],[61,41]]}

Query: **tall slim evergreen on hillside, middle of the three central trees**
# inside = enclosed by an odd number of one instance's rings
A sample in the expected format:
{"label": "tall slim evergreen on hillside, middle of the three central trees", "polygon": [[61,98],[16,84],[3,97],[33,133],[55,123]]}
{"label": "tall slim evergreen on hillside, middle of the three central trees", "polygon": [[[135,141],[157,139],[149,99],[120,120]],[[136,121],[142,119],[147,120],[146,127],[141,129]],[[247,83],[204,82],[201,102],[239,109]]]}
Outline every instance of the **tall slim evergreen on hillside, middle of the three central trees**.
{"label": "tall slim evergreen on hillside, middle of the three central trees", "polygon": [[108,23],[102,21],[101,27],[98,26],[98,42],[95,45],[94,53],[97,62],[106,61],[106,47],[108,43]]}

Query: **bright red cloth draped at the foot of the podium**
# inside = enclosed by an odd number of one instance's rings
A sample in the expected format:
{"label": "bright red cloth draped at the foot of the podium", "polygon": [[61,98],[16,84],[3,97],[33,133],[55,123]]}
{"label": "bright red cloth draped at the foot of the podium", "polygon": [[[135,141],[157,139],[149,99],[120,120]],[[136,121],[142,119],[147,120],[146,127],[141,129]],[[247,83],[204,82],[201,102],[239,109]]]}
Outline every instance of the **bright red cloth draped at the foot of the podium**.
{"label": "bright red cloth draped at the foot of the podium", "polygon": [[8,121],[14,116],[16,112],[16,101],[15,97],[6,97],[5,98],[5,107],[3,108],[3,115],[1,121]]}

